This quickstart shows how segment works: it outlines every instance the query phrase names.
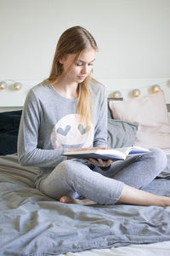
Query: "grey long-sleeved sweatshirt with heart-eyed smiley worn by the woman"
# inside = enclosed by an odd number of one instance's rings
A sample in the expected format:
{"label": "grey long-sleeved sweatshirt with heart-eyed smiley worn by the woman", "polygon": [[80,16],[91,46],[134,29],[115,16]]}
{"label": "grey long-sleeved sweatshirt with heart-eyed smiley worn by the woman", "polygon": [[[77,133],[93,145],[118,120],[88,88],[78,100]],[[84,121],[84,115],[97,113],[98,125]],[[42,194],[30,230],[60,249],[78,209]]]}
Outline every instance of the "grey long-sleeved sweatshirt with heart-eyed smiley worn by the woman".
{"label": "grey long-sleeved sweatshirt with heart-eyed smiley worn by the woman", "polygon": [[86,132],[76,113],[77,99],[61,96],[47,81],[32,87],[20,120],[18,155],[22,166],[40,168],[38,177],[51,172],[67,148],[105,147],[107,110],[105,86],[91,83],[93,123]]}

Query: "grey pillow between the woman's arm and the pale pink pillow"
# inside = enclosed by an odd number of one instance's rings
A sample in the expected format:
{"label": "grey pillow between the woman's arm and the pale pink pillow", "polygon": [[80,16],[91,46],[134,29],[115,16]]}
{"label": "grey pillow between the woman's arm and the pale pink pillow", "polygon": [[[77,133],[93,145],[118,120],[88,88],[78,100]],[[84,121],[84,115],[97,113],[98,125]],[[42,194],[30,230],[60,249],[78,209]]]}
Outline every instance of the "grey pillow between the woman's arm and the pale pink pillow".
{"label": "grey pillow between the woman's arm and the pale pink pillow", "polygon": [[108,119],[107,143],[109,148],[132,146],[136,139],[138,125],[117,119]]}

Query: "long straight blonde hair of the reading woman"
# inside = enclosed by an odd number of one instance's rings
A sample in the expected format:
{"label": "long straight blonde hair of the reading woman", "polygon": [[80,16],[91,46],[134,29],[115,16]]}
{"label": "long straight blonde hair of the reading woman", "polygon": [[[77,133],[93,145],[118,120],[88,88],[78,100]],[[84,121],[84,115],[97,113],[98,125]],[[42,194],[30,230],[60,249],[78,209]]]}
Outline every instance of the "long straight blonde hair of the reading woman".
{"label": "long straight blonde hair of the reading woman", "polygon": [[[60,36],[55,54],[54,61],[51,68],[51,73],[48,77],[49,82],[54,83],[61,78],[63,73],[63,67],[59,63],[59,58],[67,54],[76,54],[74,61],[78,59],[84,49],[89,47],[97,50],[98,46],[94,40],[94,37],[82,26],[72,26],[67,29]],[[92,102],[90,93],[90,82],[92,80],[92,73],[83,80],[81,84],[78,84],[78,98],[77,98],[77,113],[81,116],[81,121],[86,124],[86,129],[89,131],[92,121]]]}

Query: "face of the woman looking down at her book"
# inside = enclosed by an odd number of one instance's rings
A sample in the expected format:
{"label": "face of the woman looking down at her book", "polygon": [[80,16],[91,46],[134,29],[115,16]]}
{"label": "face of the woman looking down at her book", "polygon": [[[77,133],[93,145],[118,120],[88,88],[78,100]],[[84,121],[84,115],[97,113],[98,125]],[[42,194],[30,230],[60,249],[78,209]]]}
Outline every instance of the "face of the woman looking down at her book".
{"label": "face of the woman looking down at her book", "polygon": [[65,55],[65,57],[60,58],[59,62],[63,64],[65,79],[70,83],[82,83],[93,68],[95,52],[93,48],[83,50],[76,62],[74,61],[76,54]]}

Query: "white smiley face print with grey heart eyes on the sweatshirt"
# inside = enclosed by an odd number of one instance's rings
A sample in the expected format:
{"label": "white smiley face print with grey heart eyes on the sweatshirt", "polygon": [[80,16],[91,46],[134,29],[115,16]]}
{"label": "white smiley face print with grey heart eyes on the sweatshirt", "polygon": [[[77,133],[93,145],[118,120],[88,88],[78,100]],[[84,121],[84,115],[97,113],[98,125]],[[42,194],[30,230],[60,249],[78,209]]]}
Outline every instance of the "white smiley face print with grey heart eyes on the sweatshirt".
{"label": "white smiley face print with grey heart eyes on the sweatshirt", "polygon": [[54,149],[88,148],[93,146],[94,126],[87,132],[84,123],[80,123],[80,115],[71,113],[59,119],[51,133]]}

